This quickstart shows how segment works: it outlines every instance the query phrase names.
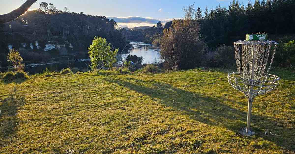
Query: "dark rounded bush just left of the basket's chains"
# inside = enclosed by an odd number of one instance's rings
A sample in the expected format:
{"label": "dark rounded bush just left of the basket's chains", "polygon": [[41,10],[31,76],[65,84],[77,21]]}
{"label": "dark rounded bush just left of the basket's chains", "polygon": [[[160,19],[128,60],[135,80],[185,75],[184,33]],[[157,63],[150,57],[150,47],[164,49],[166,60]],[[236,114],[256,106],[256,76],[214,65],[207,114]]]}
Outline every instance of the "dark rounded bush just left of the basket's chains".
{"label": "dark rounded bush just left of the basket's chains", "polygon": [[225,44],[217,47],[215,52],[215,62],[217,66],[233,66],[235,65],[235,49],[233,46]]}

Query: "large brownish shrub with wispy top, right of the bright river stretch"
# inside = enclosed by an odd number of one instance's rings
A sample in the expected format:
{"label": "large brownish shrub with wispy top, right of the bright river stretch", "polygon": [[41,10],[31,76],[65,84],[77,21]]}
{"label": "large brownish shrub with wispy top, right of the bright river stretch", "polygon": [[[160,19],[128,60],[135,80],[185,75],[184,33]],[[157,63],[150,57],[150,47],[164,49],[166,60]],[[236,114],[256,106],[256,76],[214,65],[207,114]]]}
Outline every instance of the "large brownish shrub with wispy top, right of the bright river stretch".
{"label": "large brownish shrub with wispy top, right of the bright river stretch", "polygon": [[184,20],[173,20],[172,27],[163,30],[161,59],[167,69],[195,68],[200,65],[204,42],[200,39],[198,21],[192,20],[194,6],[188,6]]}

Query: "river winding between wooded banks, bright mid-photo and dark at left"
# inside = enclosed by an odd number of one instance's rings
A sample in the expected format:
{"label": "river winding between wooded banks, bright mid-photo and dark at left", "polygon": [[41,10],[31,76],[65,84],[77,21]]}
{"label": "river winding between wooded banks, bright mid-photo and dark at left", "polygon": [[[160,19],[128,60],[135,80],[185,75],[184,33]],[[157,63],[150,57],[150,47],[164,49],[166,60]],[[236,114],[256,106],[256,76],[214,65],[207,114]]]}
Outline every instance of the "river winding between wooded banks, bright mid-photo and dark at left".
{"label": "river winding between wooded banks, bright mid-photo and dark at left", "polygon": [[[145,44],[142,42],[130,42],[132,47],[122,54],[123,57],[130,55],[137,55],[143,57],[143,63],[153,63],[160,58],[160,46],[153,44]],[[118,54],[117,58],[120,57]],[[52,59],[51,62],[46,63],[32,63],[25,64],[24,71],[30,72],[30,74],[41,73],[48,68],[50,71],[60,71],[64,68],[78,67],[80,69],[86,69],[90,64],[90,59],[74,59],[73,57],[58,57]],[[11,67],[0,67],[1,72],[5,72],[11,69]],[[89,67],[88,67],[89,69]]]}

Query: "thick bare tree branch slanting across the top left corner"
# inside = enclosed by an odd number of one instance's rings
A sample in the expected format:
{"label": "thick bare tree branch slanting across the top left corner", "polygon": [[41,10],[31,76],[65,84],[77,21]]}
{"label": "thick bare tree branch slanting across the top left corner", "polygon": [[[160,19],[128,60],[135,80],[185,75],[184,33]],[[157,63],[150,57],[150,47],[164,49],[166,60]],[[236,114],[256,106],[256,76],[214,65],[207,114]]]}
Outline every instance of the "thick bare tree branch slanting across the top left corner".
{"label": "thick bare tree branch slanting across the top left corner", "polygon": [[19,8],[9,12],[8,14],[0,15],[0,24],[12,21],[24,14],[37,0],[27,0]]}

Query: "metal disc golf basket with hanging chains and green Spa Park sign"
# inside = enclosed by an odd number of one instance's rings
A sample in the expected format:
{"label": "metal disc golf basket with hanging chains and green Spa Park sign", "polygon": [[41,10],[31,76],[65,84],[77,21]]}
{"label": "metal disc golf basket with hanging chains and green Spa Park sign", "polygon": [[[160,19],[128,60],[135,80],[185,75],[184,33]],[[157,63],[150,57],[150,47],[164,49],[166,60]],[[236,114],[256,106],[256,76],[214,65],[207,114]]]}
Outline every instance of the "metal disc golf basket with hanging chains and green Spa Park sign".
{"label": "metal disc golf basket with hanging chains and green Spa Park sign", "polygon": [[278,76],[268,74],[278,43],[266,39],[266,34],[252,34],[245,41],[234,42],[238,72],[229,73],[227,78],[234,89],[248,98],[247,127],[240,131],[242,135],[254,134],[250,130],[254,98],[274,90],[280,81]]}

